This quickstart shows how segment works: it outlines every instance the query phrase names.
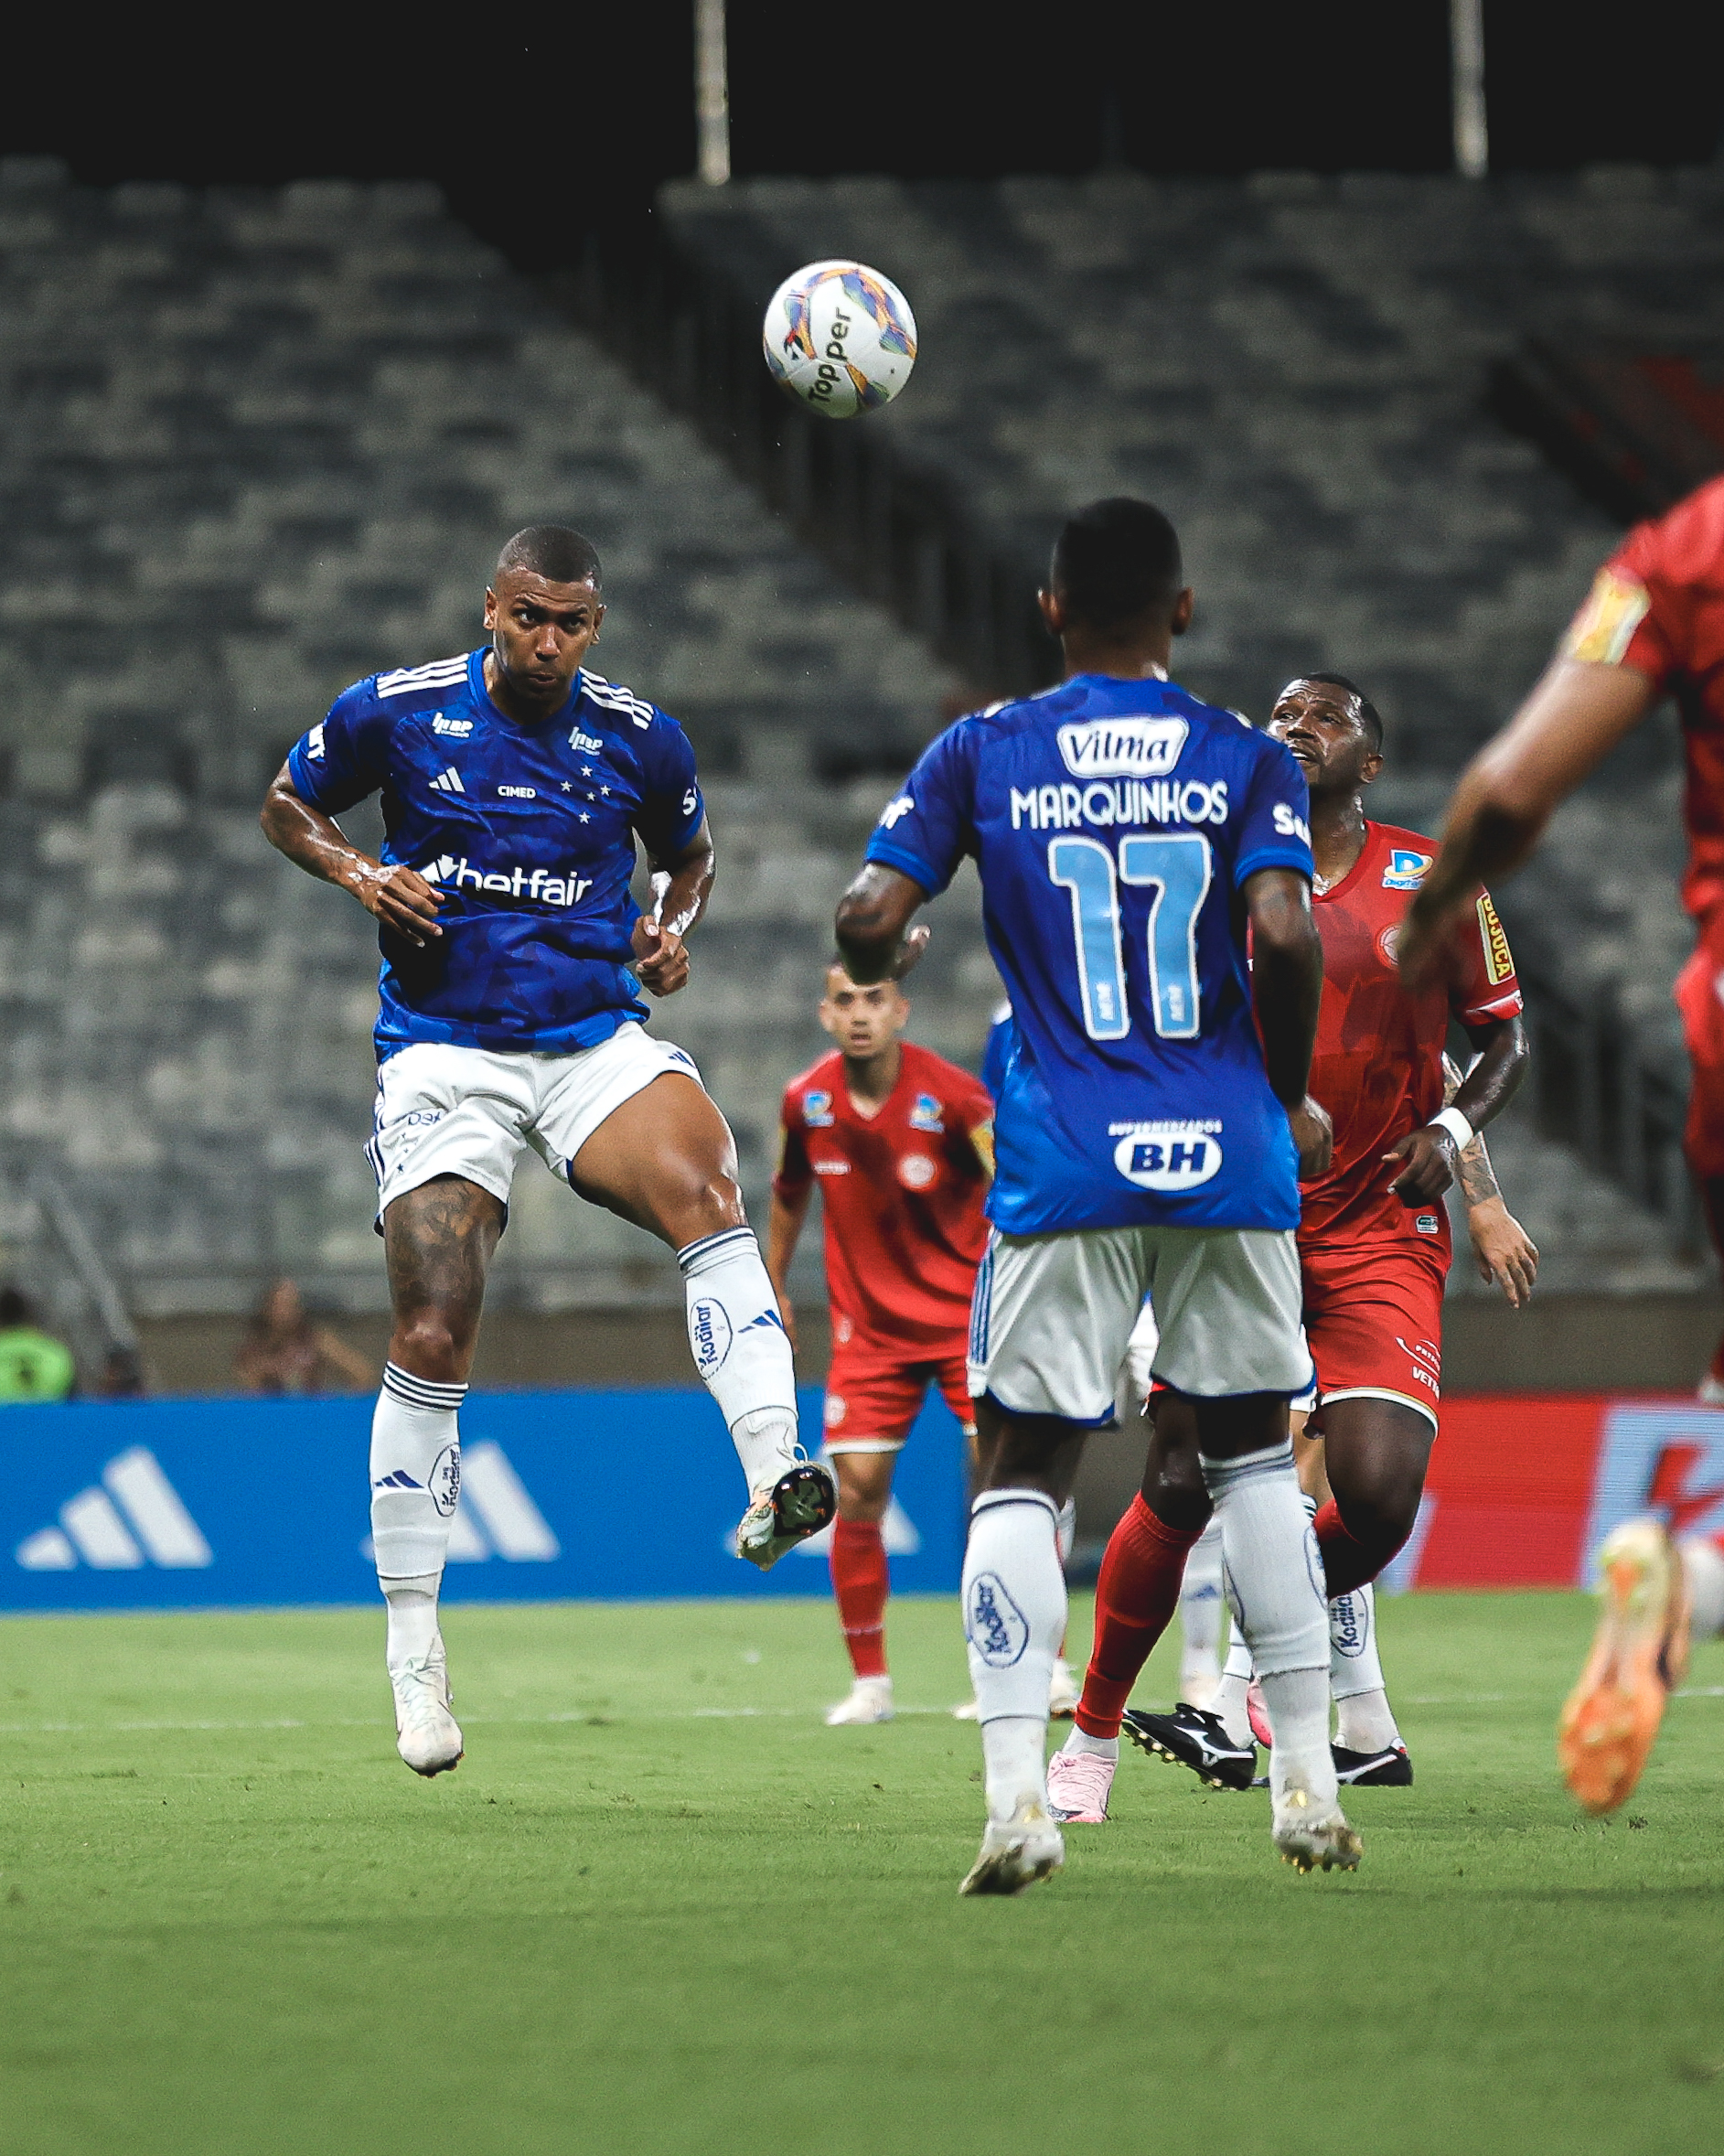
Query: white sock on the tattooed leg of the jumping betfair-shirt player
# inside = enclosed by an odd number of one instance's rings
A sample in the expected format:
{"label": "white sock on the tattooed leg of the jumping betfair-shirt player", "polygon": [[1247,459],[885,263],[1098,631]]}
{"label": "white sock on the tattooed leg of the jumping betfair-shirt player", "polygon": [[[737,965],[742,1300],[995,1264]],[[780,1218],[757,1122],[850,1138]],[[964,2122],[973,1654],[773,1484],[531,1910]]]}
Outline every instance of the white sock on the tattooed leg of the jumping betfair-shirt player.
{"label": "white sock on the tattooed leg of the jumping betfair-shirt player", "polygon": [[429,1602],[425,1647],[437,1630],[437,1587],[461,1496],[457,1410],[465,1393],[465,1384],[440,1384],[414,1378],[394,1363],[384,1365],[384,1388],[371,1416],[371,1546],[377,1585],[390,1600],[390,1667],[399,1643],[425,1634],[422,1604],[403,1600],[397,1621],[397,1598],[422,1595]]}

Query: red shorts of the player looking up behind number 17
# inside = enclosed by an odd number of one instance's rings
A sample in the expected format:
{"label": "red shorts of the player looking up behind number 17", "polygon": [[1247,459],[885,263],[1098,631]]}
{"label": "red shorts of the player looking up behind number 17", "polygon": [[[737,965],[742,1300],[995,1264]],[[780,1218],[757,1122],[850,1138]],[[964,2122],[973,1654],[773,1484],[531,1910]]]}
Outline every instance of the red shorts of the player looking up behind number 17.
{"label": "red shorts of the player looking up behind number 17", "polygon": [[1444,1266],[1416,1244],[1299,1250],[1317,1399],[1399,1399],[1437,1421]]}

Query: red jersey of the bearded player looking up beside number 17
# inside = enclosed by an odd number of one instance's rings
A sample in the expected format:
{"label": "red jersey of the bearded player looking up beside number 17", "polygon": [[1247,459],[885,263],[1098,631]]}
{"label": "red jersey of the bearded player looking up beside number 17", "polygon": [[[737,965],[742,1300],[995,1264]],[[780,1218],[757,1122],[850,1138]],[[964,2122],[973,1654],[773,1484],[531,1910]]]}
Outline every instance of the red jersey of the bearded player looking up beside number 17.
{"label": "red jersey of the bearded player looking up beside number 17", "polygon": [[1448,985],[1409,996],[1394,942],[1414,890],[1435,860],[1435,839],[1392,824],[1364,826],[1364,852],[1330,890],[1312,890],[1323,938],[1323,1007],[1310,1093],[1334,1121],[1334,1166],[1302,1184],[1302,1244],[1388,1238],[1422,1242],[1448,1261],[1448,1212],[1403,1205],[1384,1153],[1442,1110],[1448,1018],[1483,1026],[1515,1018],[1521,990],[1489,893],[1455,936]]}

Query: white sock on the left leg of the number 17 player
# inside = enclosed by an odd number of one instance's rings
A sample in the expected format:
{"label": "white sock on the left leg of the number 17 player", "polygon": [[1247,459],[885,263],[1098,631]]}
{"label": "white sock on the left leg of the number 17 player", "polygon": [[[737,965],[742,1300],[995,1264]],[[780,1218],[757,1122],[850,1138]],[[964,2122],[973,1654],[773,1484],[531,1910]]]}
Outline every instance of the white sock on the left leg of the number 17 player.
{"label": "white sock on the left leg of the number 17 player", "polygon": [[[987,1809],[996,1820],[1011,1818],[1028,1796],[1047,1798],[1047,1680],[1067,1615],[1056,1520],[1058,1507],[1041,1490],[983,1490],[970,1509],[963,1636],[983,1725]],[[1032,1723],[1034,1742],[1024,1731],[1002,1736],[996,1761],[987,1727],[1000,1720]],[[1026,1783],[1030,1768],[1032,1781]]]}

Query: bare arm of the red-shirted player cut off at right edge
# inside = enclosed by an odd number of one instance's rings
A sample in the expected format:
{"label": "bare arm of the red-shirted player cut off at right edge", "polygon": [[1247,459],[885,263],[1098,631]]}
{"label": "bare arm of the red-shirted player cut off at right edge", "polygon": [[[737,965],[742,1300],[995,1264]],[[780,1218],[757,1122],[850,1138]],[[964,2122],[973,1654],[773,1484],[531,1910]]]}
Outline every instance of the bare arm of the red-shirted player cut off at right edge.
{"label": "bare arm of the red-shirted player cut off at right edge", "polygon": [[1653,705],[1638,666],[1556,660],[1502,733],[1461,772],[1442,852],[1401,925],[1401,979],[1427,987],[1442,972],[1448,927],[1487,880],[1513,875],[1552,813],[1629,735]]}

